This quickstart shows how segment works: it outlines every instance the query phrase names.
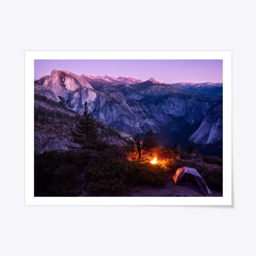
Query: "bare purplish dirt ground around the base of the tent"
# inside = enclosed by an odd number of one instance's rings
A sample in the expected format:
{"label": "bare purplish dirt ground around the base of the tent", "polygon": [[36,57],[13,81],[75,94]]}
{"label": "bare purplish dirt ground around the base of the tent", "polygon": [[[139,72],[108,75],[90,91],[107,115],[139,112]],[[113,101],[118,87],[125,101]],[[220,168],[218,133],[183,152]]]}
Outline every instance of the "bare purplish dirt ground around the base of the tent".
{"label": "bare purplish dirt ground around the base of the tent", "polygon": [[[211,190],[212,191],[212,190]],[[182,185],[175,185],[172,180],[172,174],[167,176],[167,184],[163,188],[148,188],[140,187],[133,188],[127,194],[127,196],[204,196],[200,191],[190,188],[183,187]],[[222,196],[221,193],[212,191],[209,196]]]}

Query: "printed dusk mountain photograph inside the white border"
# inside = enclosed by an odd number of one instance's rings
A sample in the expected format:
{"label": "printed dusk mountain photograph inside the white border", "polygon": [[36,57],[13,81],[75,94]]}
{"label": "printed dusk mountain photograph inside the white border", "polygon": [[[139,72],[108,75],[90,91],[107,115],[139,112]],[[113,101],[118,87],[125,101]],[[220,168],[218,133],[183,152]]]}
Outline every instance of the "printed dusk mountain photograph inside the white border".
{"label": "printed dusk mountain photograph inside the white border", "polygon": [[33,58],[33,198],[222,198],[223,59],[89,57]]}

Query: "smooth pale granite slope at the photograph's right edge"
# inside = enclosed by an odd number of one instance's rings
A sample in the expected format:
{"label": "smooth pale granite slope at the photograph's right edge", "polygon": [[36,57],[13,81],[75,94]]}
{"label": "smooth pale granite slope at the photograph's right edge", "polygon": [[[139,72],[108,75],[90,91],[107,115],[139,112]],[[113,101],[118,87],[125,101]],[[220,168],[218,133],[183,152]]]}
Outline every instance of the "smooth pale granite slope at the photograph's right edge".
{"label": "smooth pale granite slope at the photograph's right edge", "polygon": [[197,144],[213,144],[222,140],[223,126],[222,103],[216,106],[204,117],[200,127],[194,132],[189,140]]}

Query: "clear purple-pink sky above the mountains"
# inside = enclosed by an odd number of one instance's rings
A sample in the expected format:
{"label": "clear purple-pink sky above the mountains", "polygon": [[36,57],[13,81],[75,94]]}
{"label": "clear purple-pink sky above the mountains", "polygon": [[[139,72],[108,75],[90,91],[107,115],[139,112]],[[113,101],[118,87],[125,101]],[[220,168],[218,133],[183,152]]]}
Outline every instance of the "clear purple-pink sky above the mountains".
{"label": "clear purple-pink sky above the mountains", "polygon": [[222,82],[222,60],[35,60],[35,79],[50,75],[52,69],[143,81],[153,77],[163,83]]}

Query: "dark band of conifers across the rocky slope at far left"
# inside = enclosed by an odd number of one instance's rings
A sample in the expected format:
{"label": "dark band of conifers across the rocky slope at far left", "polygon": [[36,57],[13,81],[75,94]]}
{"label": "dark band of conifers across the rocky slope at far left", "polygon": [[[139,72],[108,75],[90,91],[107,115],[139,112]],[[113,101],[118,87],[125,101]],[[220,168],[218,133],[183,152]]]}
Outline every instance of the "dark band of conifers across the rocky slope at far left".
{"label": "dark band of conifers across the rocky slope at far left", "polygon": [[54,124],[54,118],[65,122],[78,121],[79,116],[70,116],[58,110],[50,110],[42,107],[34,108],[34,121],[41,124]]}

